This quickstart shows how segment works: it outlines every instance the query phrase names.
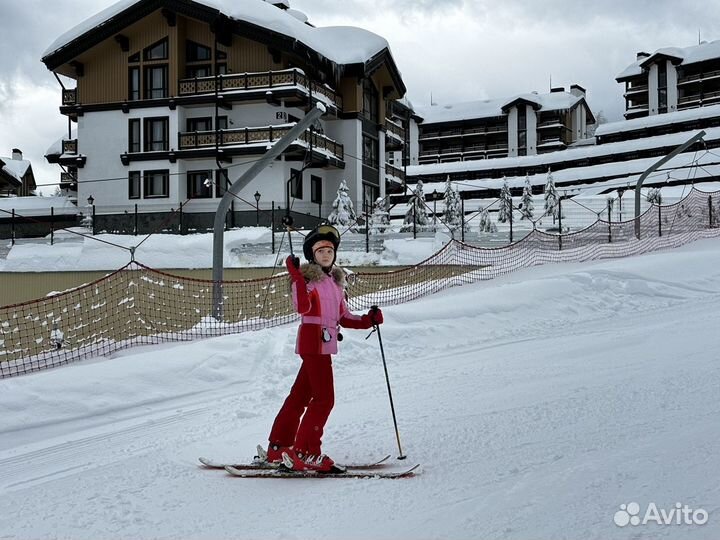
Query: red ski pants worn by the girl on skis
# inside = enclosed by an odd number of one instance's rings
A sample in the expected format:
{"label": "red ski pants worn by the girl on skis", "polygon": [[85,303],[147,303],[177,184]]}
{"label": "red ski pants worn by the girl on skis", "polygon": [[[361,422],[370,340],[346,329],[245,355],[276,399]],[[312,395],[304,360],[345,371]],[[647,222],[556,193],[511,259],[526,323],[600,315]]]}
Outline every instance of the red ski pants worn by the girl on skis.
{"label": "red ski pants worn by the girl on skis", "polygon": [[273,423],[270,443],[294,446],[317,456],[323,428],[335,405],[332,359],[329,354],[305,354],[301,358],[303,363],[290,395]]}

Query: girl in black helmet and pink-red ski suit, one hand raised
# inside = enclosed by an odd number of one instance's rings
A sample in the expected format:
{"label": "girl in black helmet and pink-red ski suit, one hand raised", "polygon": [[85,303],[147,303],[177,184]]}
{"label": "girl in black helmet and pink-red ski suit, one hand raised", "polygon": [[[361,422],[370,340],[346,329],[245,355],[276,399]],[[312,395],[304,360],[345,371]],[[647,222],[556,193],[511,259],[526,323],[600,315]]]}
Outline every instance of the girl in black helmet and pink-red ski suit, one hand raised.
{"label": "girl in black helmet and pink-red ski suit, one hand raised", "polygon": [[301,266],[293,255],[285,261],[293,304],[302,315],[295,346],[302,365],[273,423],[267,459],[278,463],[287,454],[295,470],[334,470],[334,461],[321,453],[320,446],[335,400],[331,355],[342,340],[338,326],[367,329],[383,322],[379,309],[362,316],[348,311],[345,272],[334,266],[339,245],[337,229],[321,225],[305,237],[303,254],[308,262]]}

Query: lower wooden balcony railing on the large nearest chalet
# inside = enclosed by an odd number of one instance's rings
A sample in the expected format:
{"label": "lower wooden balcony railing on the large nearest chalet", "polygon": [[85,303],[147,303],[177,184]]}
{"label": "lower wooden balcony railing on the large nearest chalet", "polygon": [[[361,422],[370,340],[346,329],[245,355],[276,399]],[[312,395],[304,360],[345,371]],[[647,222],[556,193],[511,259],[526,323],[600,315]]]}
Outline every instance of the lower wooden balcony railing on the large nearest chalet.
{"label": "lower wooden balcony railing on the large nearest chalet", "polygon": [[[292,128],[292,124],[284,124],[282,126],[221,129],[217,132],[192,131],[179,133],[178,140],[181,150],[213,147],[216,144],[216,136],[218,146],[250,145],[278,141]],[[315,150],[326,150],[340,160],[345,159],[343,145],[325,135],[308,129],[299,137],[299,140],[312,145]]]}

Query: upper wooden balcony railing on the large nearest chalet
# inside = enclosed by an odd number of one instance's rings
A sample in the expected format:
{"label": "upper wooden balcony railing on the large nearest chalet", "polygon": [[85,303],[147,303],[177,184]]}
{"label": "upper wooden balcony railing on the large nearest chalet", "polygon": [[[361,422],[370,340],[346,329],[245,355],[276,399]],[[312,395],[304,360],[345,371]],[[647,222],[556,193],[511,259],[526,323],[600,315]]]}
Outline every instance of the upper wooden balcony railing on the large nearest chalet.
{"label": "upper wooden balcony railing on the large nearest chalet", "polygon": [[338,110],[342,110],[342,96],[337,92],[308,78],[299,69],[284,69],[281,71],[263,71],[256,73],[231,73],[217,77],[197,77],[194,79],[181,79],[179,82],[180,95],[209,94],[215,92],[217,81],[218,92],[231,92],[235,90],[262,90],[281,86],[302,86],[311,94],[321,94]]}

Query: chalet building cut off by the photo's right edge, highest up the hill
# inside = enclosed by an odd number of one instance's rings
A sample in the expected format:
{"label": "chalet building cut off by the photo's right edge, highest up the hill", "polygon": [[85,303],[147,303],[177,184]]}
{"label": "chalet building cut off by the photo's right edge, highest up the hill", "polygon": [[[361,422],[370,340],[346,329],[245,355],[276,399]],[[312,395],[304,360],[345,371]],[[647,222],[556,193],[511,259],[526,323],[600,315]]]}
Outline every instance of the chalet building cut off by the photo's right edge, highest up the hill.
{"label": "chalet building cut off by the photo's right edge, highest up the hill", "polygon": [[639,52],[615,80],[628,120],[720,104],[720,41]]}

